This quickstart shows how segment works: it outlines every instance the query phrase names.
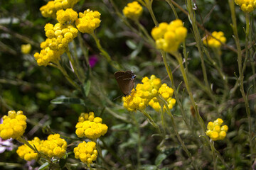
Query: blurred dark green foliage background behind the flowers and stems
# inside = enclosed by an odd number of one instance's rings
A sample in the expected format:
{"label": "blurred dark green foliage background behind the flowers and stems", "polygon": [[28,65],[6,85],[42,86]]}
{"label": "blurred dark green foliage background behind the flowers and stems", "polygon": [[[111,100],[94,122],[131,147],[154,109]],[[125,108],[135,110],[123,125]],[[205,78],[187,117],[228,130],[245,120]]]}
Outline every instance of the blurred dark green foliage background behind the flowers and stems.
{"label": "blurred dark green foliage background behind the flowers and stems", "polygon": [[[105,161],[109,162],[114,169],[136,169],[138,162],[136,153],[139,140],[142,143],[142,148],[139,148],[142,169],[191,169],[191,162],[181,149],[178,140],[173,140],[173,138],[166,135],[165,143],[159,145],[161,137],[156,134],[156,130],[149,123],[146,124],[145,118],[141,113],[129,113],[124,110],[120,98],[113,101],[114,98],[121,95],[114,79],[114,72],[117,70],[113,69],[100,56],[95,42],[87,34],[83,35],[83,39],[89,49],[89,56],[97,55],[99,62],[92,68],[92,77],[89,78],[91,87],[87,98],[85,98],[85,106],[50,103],[54,98],[63,96],[82,98],[82,94],[68,84],[68,81],[66,81],[58,69],[38,67],[33,58],[33,54],[40,51],[40,42],[46,39],[43,27],[46,23],[55,23],[53,19],[41,16],[39,8],[46,4],[46,2],[37,0],[0,1],[0,117],[6,115],[9,110],[23,111],[28,118],[28,128],[25,132],[28,140],[32,140],[35,136],[41,137],[43,140],[46,139],[50,131],[58,132],[64,136],[76,137],[75,124],[80,113],[94,111],[95,115],[100,116],[103,119],[103,123],[109,127],[105,137],[102,137],[101,144],[103,155],[106,158]],[[114,3],[118,6],[119,11],[121,11],[127,4],[127,1],[115,0]],[[176,1],[176,3],[186,8],[183,1]],[[97,36],[102,47],[109,52],[112,60],[122,65],[123,70],[133,70],[137,74],[137,83],[140,82],[142,77],[150,77],[151,74],[155,74],[156,77],[163,79],[164,83],[170,84],[169,79],[166,79],[167,73],[160,53],[124,25],[123,21],[115,13],[110,1],[81,0],[74,7],[74,10],[79,12],[87,8],[100,11],[101,13],[102,22],[100,23],[100,28],[97,28]],[[196,1],[194,8],[196,9],[197,21],[206,30],[210,32],[214,30],[223,31],[227,38],[227,45],[235,47],[232,37],[233,31],[231,31],[230,27],[231,18],[228,3],[220,0]],[[159,22],[169,23],[175,19],[169,4],[165,1],[154,1],[153,9]],[[195,40],[191,23],[186,14],[181,10],[176,8],[176,11],[178,17],[184,22],[184,26],[188,28],[186,48],[189,52],[189,73],[203,81],[201,60],[193,43]],[[245,27],[245,18],[238,6],[236,12],[238,33],[244,47],[245,33],[243,27]],[[255,21],[255,18],[252,20]],[[146,8],[144,8],[140,23],[149,33],[154,28],[154,23]],[[131,24],[134,26],[132,22]],[[204,31],[200,30],[200,32],[203,37]],[[78,44],[78,40],[75,40],[75,42]],[[21,53],[21,45],[27,43],[32,45],[32,51],[28,55],[23,55]],[[78,49],[80,63],[85,65],[84,58],[81,57],[81,51],[81,49]],[[236,81],[234,72],[238,74],[236,54],[224,47],[222,57],[224,72],[228,75],[229,88],[232,89]],[[62,62],[68,67],[67,58],[66,55],[63,55]],[[174,57],[169,56],[169,62],[173,70],[178,65],[174,62]],[[215,95],[218,96],[222,94],[223,84],[219,77],[216,76],[213,66],[207,64],[206,67],[212,89]],[[75,79],[70,70],[69,73]],[[245,79],[248,80],[251,76],[252,69],[247,67]],[[178,72],[178,70],[174,72],[174,80],[176,86],[183,81],[181,72]],[[215,142],[215,148],[223,155],[230,169],[243,169],[244,167],[249,169],[251,162],[249,162],[247,157],[249,148],[245,132],[247,131],[247,121],[245,120],[247,115],[244,103],[239,99],[241,98],[239,89],[235,91],[235,95],[232,98],[229,98],[229,101],[226,101],[226,105],[223,106],[223,103],[218,103],[222,108],[220,108],[220,115],[216,115],[214,113],[215,108],[211,105],[209,97],[206,96],[203,89],[197,86],[192,79],[190,81],[193,87],[193,94],[201,109],[200,113],[203,120],[207,123],[221,116],[225,120],[225,124],[230,128],[228,130],[228,142]],[[246,88],[250,85],[250,82],[245,84]],[[183,107],[191,119],[191,123],[196,126],[196,121],[190,115],[191,103],[186,90],[183,90],[184,88],[184,84],[181,84],[180,93]],[[255,86],[253,90],[255,90]],[[252,96],[250,103],[255,103],[255,96]],[[251,109],[255,111],[255,108]],[[201,149],[206,149],[208,146],[196,146],[198,139],[187,135],[178,106],[172,112],[176,117],[178,128],[181,130],[180,133],[183,141],[188,144],[188,149],[197,158],[196,162],[201,165],[201,169],[213,169],[210,154],[201,152]],[[157,113],[152,110],[149,110],[149,113],[154,120],[159,120]],[[255,114],[252,117],[255,119]],[[132,123],[133,119],[139,123],[140,139],[138,139],[137,135],[138,127]],[[166,119],[169,120],[169,118]],[[253,129],[255,132],[255,124],[253,124]],[[174,135],[171,128],[170,132],[171,135]],[[73,139],[66,140],[68,143],[74,142]],[[14,147],[18,145],[20,144],[14,142]],[[73,147],[75,147],[75,144],[70,146],[69,157],[73,157]],[[9,164],[2,164],[3,162]],[[98,159],[97,163],[102,164],[102,159]],[[14,148],[11,152],[0,154],[0,166],[4,167],[4,169],[27,169],[28,163],[18,158],[16,148]],[[33,166],[38,166],[38,164]],[[79,168],[82,169],[82,166],[78,166]],[[221,164],[218,168],[227,169],[226,166]]]}

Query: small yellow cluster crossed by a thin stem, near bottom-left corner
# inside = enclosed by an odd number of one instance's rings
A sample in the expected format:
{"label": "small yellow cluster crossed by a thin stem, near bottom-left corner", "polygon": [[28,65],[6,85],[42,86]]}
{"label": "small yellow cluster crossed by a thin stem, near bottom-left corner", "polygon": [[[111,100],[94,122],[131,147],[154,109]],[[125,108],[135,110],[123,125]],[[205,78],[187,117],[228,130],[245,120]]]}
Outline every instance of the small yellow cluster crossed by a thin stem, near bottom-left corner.
{"label": "small yellow cluster crossed by a thin stem, near bottom-left corner", "polygon": [[[38,137],[34,137],[33,140],[28,140],[29,144],[33,147],[36,147],[36,149],[40,152],[41,147],[41,140]],[[31,161],[32,159],[38,159],[38,153],[33,151],[28,145],[21,145],[17,149],[18,157],[21,157],[21,159],[25,159],[26,161]]]}

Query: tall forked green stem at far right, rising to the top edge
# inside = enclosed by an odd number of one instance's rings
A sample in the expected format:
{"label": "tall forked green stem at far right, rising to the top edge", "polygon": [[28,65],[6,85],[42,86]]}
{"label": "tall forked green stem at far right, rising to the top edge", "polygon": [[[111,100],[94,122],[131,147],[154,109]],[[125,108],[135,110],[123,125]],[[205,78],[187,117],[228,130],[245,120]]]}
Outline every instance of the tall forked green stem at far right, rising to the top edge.
{"label": "tall forked green stem at far right, rising to the top edge", "polygon": [[[243,68],[242,68],[242,52],[241,52],[241,47],[240,47],[240,42],[239,42],[239,37],[238,37],[238,27],[236,23],[236,18],[235,18],[235,4],[233,0],[229,0],[229,5],[230,5],[230,11],[231,11],[231,18],[232,18],[232,23],[233,23],[233,33],[234,33],[234,38],[235,38],[235,44],[238,49],[238,70],[239,70],[239,86],[240,86],[240,91],[242,94],[242,98],[245,101],[245,111],[247,113],[247,118],[248,118],[248,126],[249,126],[249,132],[248,132],[248,137],[249,137],[249,145],[250,145],[250,162],[252,164],[253,159],[253,145],[252,145],[252,120],[251,120],[251,115],[250,115],[250,106],[248,102],[247,95],[245,94],[245,89],[244,89],[244,75],[243,75]],[[246,29],[245,29],[245,59],[247,58],[248,55],[248,35],[249,35],[249,30],[250,30],[250,15],[249,13],[245,13],[245,21],[246,21]],[[245,61],[246,62],[246,61]],[[244,63],[246,64],[246,63]],[[245,67],[244,67],[245,68]]]}

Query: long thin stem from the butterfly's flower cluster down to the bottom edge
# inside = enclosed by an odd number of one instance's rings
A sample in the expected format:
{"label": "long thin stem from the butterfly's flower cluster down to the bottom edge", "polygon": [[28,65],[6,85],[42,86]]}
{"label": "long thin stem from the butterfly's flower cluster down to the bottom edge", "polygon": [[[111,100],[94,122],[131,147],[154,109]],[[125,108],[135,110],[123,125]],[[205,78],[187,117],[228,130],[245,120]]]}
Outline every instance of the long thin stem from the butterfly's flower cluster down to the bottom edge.
{"label": "long thin stem from the butterfly's flower cluster down to the bottom edge", "polygon": [[184,144],[183,140],[181,140],[181,136],[178,134],[178,129],[177,129],[176,123],[175,123],[175,121],[174,121],[174,116],[171,114],[170,109],[168,109],[168,108],[169,108],[169,107],[168,107],[168,104],[166,103],[166,101],[164,100],[164,98],[162,98],[161,96],[159,96],[158,98],[159,98],[159,101],[160,101],[161,103],[163,103],[164,106],[166,107],[167,114],[168,114],[168,115],[170,116],[170,118],[171,118],[171,125],[172,125],[173,128],[174,128],[174,132],[175,132],[175,134],[176,134],[176,136],[177,136],[177,138],[178,138],[178,142],[181,143],[182,149],[186,152],[186,154],[188,155],[189,159],[191,159],[193,168],[194,168],[194,169],[198,169],[198,167],[196,166],[196,163],[194,162],[193,157],[191,156],[191,153],[188,151],[188,149],[187,149],[186,145]]}

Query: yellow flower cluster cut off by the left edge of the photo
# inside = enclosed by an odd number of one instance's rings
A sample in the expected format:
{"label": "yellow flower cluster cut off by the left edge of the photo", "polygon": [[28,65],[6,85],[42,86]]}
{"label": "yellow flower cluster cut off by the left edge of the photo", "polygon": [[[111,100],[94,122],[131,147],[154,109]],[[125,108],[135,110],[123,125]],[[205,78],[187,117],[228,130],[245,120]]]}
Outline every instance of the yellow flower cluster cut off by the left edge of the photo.
{"label": "yellow flower cluster cut off by the left edge of the photo", "polygon": [[0,137],[4,140],[9,138],[18,139],[26,130],[26,115],[22,111],[9,111],[4,115],[3,123],[0,124]]}

